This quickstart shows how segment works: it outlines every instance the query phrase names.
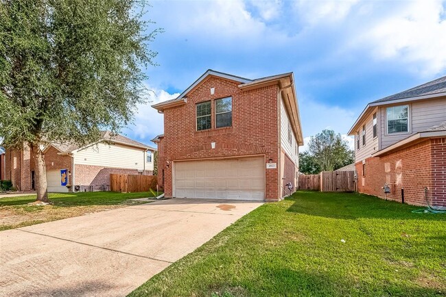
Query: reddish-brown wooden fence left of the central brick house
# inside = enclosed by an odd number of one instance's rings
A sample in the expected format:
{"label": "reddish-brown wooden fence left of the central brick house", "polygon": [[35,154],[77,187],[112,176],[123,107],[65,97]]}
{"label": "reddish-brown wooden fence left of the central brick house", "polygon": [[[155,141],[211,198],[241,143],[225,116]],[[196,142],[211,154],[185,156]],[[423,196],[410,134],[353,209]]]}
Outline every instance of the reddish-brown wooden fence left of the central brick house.
{"label": "reddish-brown wooden fence left of the central brick house", "polygon": [[116,175],[110,174],[110,190],[113,192],[148,192],[156,191],[156,175]]}

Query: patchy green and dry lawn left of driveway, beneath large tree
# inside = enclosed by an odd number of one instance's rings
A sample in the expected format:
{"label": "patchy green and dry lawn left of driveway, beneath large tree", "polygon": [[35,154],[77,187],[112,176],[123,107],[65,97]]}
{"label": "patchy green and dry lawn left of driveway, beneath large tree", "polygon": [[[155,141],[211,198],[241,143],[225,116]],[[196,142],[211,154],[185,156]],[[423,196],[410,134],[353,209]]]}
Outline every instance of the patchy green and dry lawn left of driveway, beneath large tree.
{"label": "patchy green and dry lawn left of driveway, beneath large tree", "polygon": [[129,199],[152,196],[150,192],[49,193],[51,205],[28,205],[28,203],[36,200],[35,195],[8,196],[0,198],[0,231],[73,216],[82,216],[91,212],[147,203],[147,201],[130,201]]}

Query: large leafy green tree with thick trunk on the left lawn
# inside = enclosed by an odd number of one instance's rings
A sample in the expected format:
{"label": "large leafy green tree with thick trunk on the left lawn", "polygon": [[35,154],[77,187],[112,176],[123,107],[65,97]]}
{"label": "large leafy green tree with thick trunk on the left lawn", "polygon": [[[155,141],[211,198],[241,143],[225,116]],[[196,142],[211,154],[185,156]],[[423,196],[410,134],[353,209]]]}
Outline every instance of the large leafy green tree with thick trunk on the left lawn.
{"label": "large leafy green tree with thick trunk on the left lawn", "polygon": [[48,201],[43,147],[119,131],[143,102],[157,30],[139,0],[0,0],[0,137],[30,146],[38,201]]}

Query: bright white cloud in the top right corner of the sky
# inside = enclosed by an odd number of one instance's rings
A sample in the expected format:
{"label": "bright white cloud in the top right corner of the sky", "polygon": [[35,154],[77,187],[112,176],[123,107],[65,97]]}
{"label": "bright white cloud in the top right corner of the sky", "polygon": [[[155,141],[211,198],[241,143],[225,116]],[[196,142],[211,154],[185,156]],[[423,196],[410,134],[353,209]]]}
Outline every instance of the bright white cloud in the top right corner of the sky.
{"label": "bright white cloud in the top right corner of the sky", "polygon": [[371,44],[378,59],[398,59],[422,74],[446,68],[446,21],[442,1],[407,1],[380,19],[359,42]]}

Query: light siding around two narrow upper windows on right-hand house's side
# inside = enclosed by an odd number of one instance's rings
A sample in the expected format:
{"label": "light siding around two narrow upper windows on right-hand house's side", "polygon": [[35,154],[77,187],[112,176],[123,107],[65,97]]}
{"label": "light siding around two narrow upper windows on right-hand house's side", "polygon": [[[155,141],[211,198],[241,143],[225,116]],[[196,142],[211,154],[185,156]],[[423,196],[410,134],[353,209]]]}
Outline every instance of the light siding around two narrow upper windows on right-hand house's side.
{"label": "light siding around two narrow upper windows on right-hand house's side", "polygon": [[[376,110],[375,110],[376,112]],[[370,116],[366,119],[365,122],[362,122],[360,126],[360,149],[357,149],[357,131],[355,131],[355,162],[360,162],[368,157],[371,157],[371,155],[378,151],[378,138],[379,138],[379,115],[378,116],[378,122],[377,122],[377,129],[378,129],[378,137],[373,138],[373,113],[372,112]],[[362,125],[366,125],[366,145],[362,145]]]}

